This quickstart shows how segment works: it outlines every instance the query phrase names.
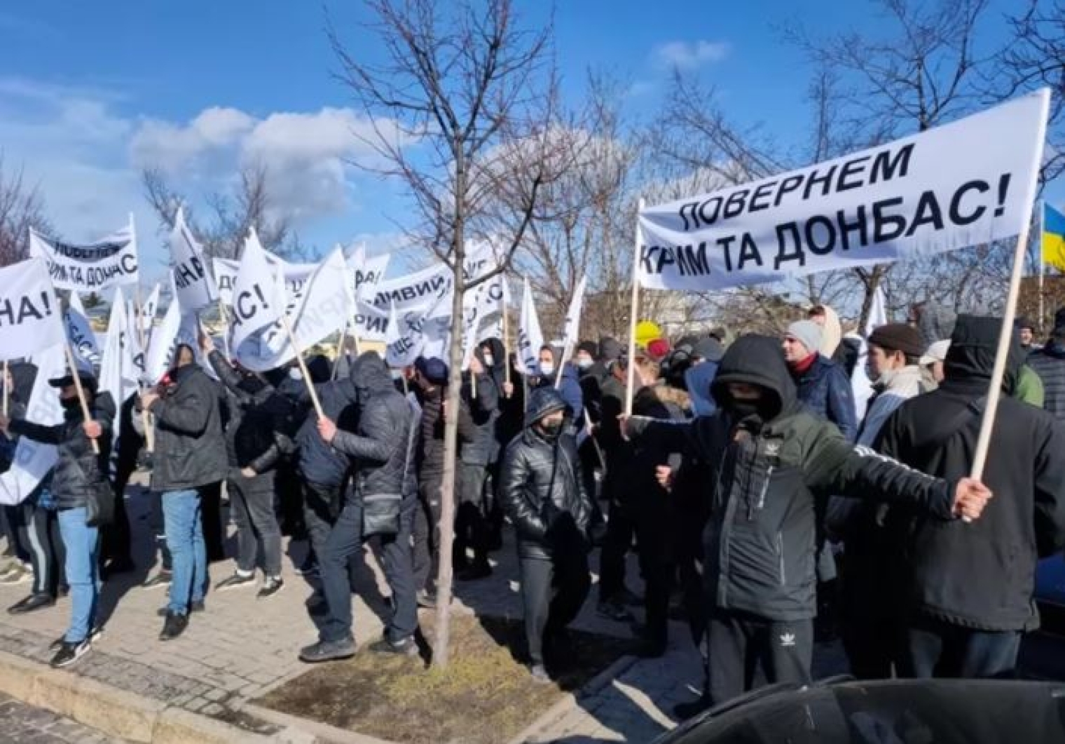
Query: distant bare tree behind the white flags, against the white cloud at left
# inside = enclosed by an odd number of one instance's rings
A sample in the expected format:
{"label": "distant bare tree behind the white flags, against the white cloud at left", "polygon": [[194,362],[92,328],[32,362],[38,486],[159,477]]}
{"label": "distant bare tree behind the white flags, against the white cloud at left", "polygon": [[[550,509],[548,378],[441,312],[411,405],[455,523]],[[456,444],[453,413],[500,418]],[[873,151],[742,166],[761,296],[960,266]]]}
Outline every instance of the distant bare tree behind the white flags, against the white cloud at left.
{"label": "distant bare tree behind the white flags, against the white cloud at left", "polygon": [[206,197],[207,217],[190,204],[186,195],[173,188],[159,168],[142,173],[145,197],[159,216],[160,230],[169,232],[178,208],[183,207],[185,222],[211,258],[235,259],[241,255],[248,229],[253,227],[263,247],[285,258],[297,258],[306,250],[292,231],[291,221],[274,204],[265,165],[243,167],[231,193],[211,193]]}

